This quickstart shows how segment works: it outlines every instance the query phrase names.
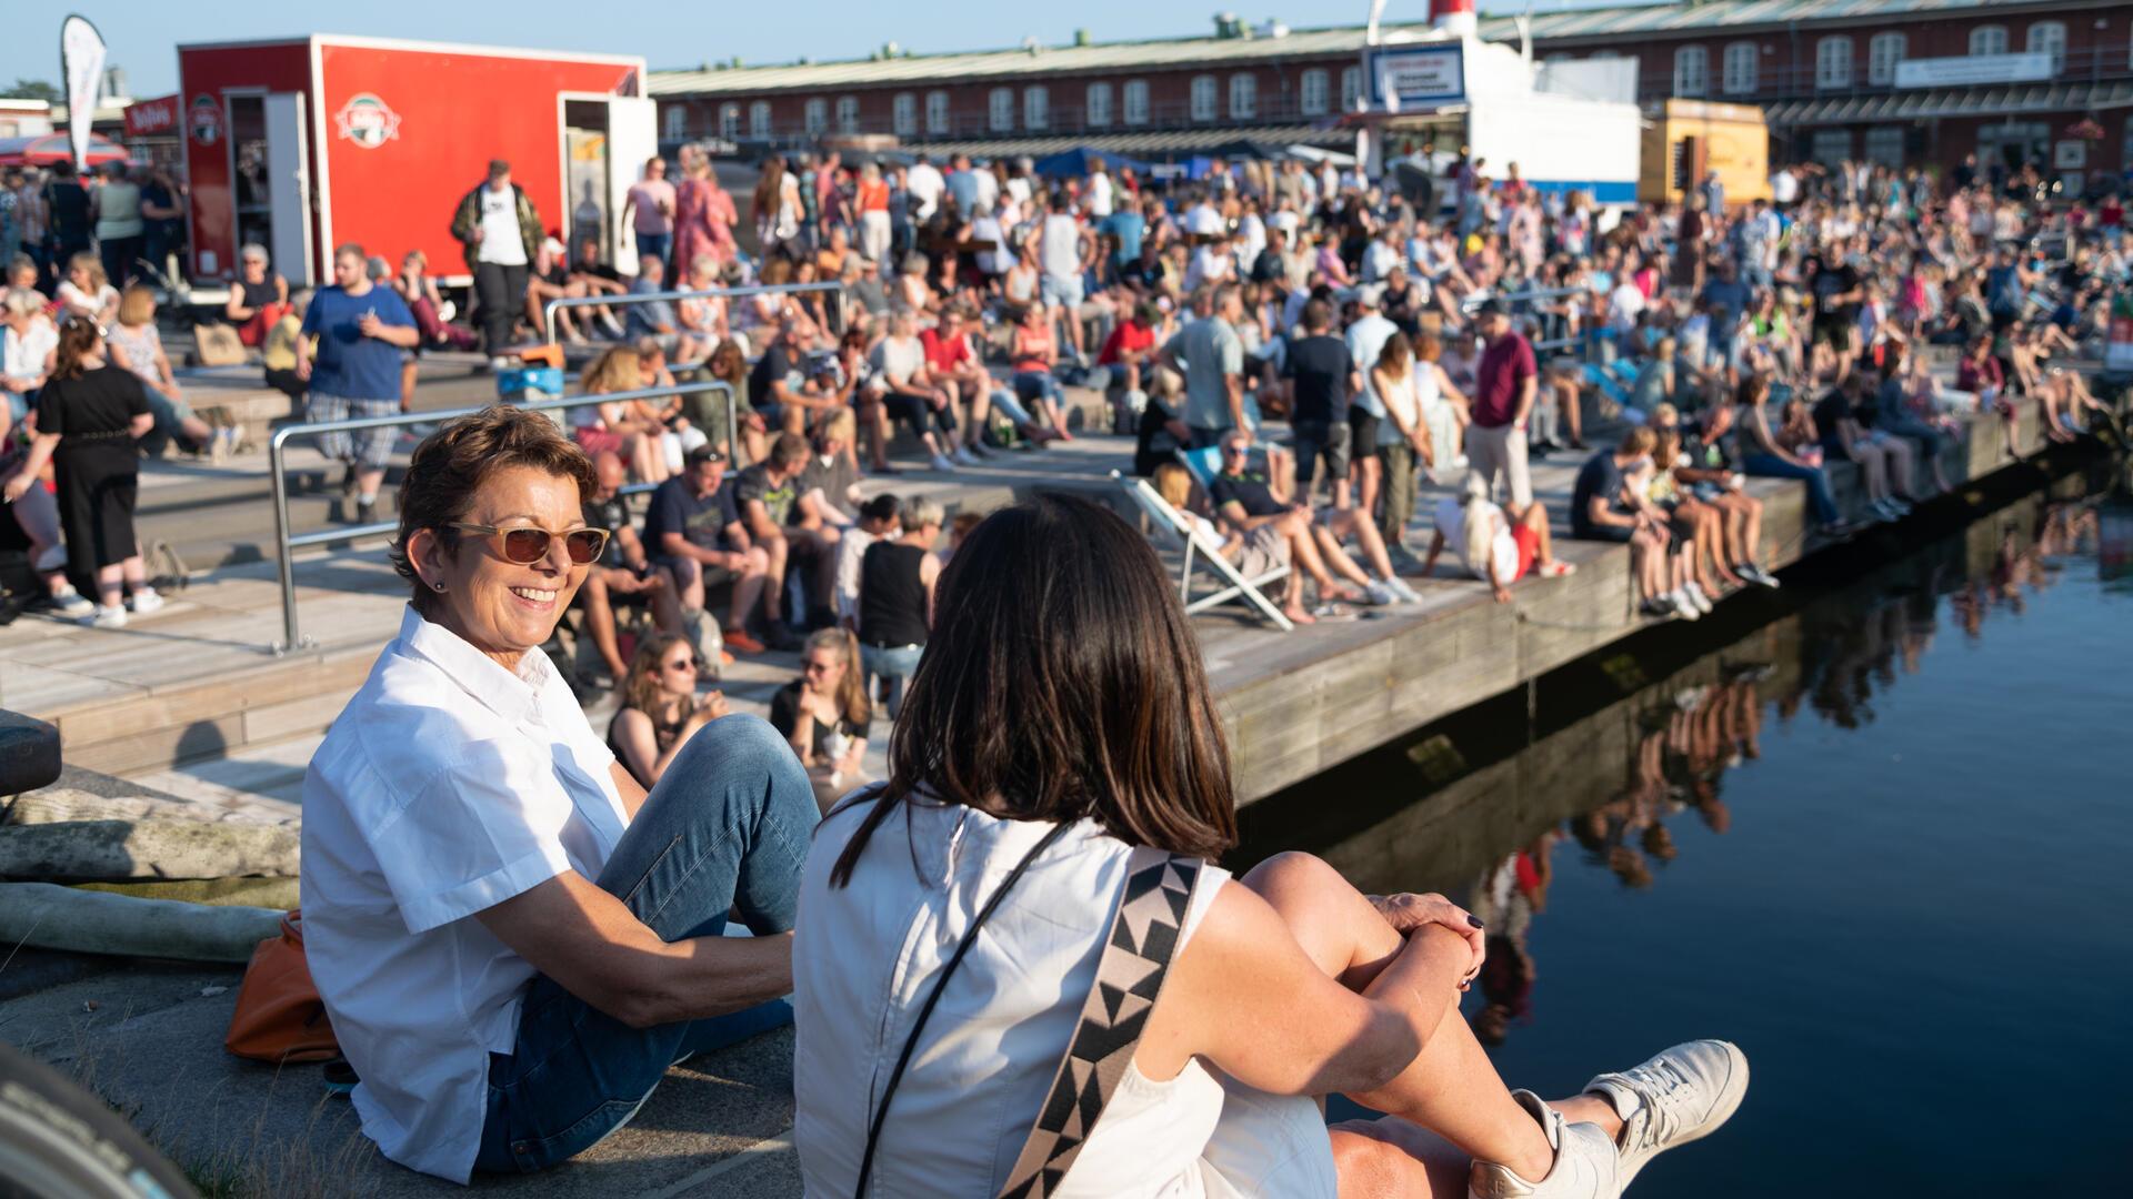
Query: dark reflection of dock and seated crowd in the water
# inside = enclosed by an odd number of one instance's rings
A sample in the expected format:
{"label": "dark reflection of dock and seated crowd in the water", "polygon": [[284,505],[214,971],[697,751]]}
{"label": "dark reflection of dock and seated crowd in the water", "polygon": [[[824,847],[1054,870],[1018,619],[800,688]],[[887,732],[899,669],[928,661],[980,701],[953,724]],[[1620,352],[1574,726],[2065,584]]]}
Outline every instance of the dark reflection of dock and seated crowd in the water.
{"label": "dark reflection of dock and seated crowd in the water", "polygon": [[1837,589],[1787,589],[1717,649],[1659,629],[1337,766],[1246,809],[1237,864],[1303,847],[1365,890],[1463,896],[1493,932],[1468,1016],[1502,1045],[1534,1018],[1557,870],[1664,888],[1681,821],[1732,830],[1726,785],[1755,770],[1766,721],[1864,730],[1943,621],[1977,642],[2075,561],[2133,580],[2133,510],[2099,484],[2063,478]]}

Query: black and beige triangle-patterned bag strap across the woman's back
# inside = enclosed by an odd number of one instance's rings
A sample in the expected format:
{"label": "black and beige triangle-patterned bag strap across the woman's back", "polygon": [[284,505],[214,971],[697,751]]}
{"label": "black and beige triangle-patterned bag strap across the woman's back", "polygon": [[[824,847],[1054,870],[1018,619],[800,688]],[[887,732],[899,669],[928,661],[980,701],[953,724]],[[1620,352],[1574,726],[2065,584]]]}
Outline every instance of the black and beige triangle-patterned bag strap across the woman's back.
{"label": "black and beige triangle-patterned bag strap across the woman's back", "polygon": [[1096,986],[1081,1003],[1066,1056],[1045,1090],[1045,1105],[1030,1126],[1005,1199],[1049,1195],[1066,1178],[1096,1120],[1133,1062],[1148,1013],[1162,994],[1171,958],[1184,932],[1192,894],[1205,877],[1203,862],[1162,849],[1135,847],[1126,860],[1126,890],[1111,913],[1096,960]]}

